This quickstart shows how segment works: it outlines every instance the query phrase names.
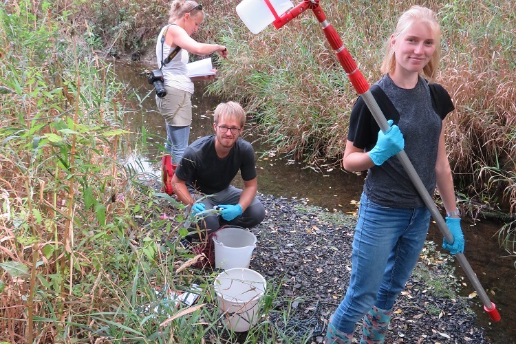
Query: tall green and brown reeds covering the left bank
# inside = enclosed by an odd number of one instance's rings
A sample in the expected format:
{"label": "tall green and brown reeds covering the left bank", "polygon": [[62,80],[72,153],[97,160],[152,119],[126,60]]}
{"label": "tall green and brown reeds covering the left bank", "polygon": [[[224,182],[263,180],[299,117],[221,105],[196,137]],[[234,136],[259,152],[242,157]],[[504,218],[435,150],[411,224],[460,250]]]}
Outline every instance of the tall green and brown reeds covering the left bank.
{"label": "tall green and brown reeds covering the left bank", "polygon": [[63,29],[65,14],[32,5],[0,8],[2,336],[146,338],[133,314],[171,276],[175,253],[160,242],[175,228],[135,221],[159,209],[118,161],[132,136],[111,66],[78,39],[80,27]]}

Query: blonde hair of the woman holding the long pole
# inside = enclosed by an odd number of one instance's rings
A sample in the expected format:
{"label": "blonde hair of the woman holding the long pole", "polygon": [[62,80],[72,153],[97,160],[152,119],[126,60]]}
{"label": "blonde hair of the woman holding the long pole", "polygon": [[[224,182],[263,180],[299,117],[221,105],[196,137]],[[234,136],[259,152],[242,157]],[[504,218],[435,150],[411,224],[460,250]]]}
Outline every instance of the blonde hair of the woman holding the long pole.
{"label": "blonde hair of the woman holding the long pole", "polygon": [[[383,58],[383,63],[380,70],[382,74],[394,72],[394,69],[396,68],[396,55],[394,54],[394,49],[391,45],[391,39],[397,39],[398,37],[405,34],[405,32],[407,32],[407,30],[409,30],[411,25],[414,23],[424,23],[428,25],[429,29],[433,33],[433,45],[436,50],[434,50],[433,55],[427,65],[423,67],[424,76],[429,79],[430,83],[433,83],[436,80],[441,56],[441,27],[439,25],[436,13],[426,7],[412,6],[409,8],[409,10],[400,16],[394,34],[392,34],[392,36],[389,37],[389,39],[387,39],[385,42],[385,56]],[[397,41],[395,44],[398,44]]]}

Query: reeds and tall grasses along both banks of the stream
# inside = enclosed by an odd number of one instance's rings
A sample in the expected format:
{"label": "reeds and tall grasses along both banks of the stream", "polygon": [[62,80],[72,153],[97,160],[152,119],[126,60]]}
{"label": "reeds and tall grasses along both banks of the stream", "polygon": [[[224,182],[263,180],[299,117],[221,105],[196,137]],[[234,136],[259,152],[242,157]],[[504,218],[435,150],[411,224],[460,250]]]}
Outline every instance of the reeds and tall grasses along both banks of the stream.
{"label": "reeds and tall grasses along both banks of the stream", "polygon": [[[227,63],[216,61],[221,77],[209,92],[246,104],[278,153],[314,168],[335,164],[356,94],[311,14],[252,35],[235,1],[203,6],[211,15],[200,34],[222,41],[231,54]],[[405,7],[322,6],[367,80],[376,80],[383,35]],[[470,200],[514,212],[516,5],[427,6],[441,9],[446,37],[439,82],[457,105],[447,130],[458,185]],[[215,299],[208,288],[213,274],[185,268],[192,256],[171,240],[182,235],[182,215],[158,217],[168,204],[178,214],[182,206],[122,164],[146,138],[130,136],[124,116],[133,109],[105,57],[152,51],[167,11],[160,0],[0,5],[3,340],[200,343],[207,334],[226,335],[220,315],[202,307]],[[511,254],[514,235],[514,223],[500,233]],[[186,290],[194,282],[206,290],[194,307],[176,312],[161,298],[164,286]],[[271,288],[264,298],[265,314],[277,292]],[[275,338],[271,331],[264,323],[248,341]]]}

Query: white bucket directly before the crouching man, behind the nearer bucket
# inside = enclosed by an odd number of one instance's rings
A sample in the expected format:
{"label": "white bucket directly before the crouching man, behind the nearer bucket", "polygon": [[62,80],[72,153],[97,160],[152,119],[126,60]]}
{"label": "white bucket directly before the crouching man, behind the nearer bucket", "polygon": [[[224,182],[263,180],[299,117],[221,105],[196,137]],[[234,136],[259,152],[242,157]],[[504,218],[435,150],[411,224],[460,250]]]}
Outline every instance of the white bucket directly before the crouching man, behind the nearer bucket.
{"label": "white bucket directly before the crouching man, behind the nearer bucket", "polygon": [[225,227],[213,235],[215,268],[249,268],[256,235],[241,227]]}

